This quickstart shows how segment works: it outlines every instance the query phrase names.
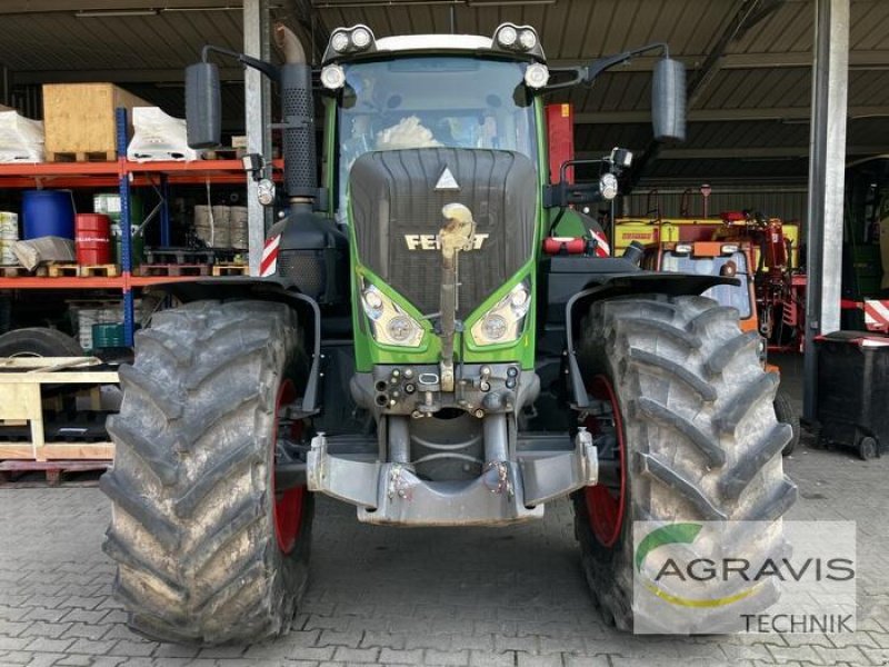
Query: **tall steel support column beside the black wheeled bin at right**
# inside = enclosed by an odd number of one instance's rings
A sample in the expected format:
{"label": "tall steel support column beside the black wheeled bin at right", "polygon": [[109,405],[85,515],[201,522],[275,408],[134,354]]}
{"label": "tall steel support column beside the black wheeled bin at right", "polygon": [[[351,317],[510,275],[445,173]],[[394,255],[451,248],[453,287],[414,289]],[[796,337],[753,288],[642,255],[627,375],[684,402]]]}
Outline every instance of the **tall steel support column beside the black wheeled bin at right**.
{"label": "tall steel support column beside the black wheeled bin at right", "polygon": [[809,420],[818,400],[815,337],[840,328],[848,84],[849,0],[816,0],[802,385],[802,414]]}

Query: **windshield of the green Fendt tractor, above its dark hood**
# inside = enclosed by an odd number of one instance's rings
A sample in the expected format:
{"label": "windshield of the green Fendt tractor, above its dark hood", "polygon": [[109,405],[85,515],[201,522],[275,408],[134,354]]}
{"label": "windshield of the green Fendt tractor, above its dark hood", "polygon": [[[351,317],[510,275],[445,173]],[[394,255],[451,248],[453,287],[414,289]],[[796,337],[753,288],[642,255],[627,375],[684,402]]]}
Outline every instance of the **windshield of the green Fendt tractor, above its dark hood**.
{"label": "windshield of the green Fendt tractor, above its dark hood", "polygon": [[372,150],[493,148],[537,163],[527,63],[462,56],[402,57],[343,66],[339,101],[338,209],[349,170]]}

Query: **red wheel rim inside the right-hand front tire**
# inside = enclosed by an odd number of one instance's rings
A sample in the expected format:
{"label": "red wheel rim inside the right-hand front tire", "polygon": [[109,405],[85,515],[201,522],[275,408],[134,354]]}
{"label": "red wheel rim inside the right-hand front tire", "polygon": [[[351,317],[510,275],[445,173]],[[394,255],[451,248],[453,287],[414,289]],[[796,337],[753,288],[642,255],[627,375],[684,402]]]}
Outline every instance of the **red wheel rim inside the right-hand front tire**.
{"label": "red wheel rim inside the right-hand front tire", "polygon": [[[616,475],[613,479],[600,481],[596,486],[585,489],[587,517],[590,530],[602,546],[612,546],[623,527],[623,511],[627,495],[627,466],[626,447],[623,442],[623,422],[620,417],[620,407],[611,382],[605,376],[596,376],[590,387],[590,395],[610,407],[610,415],[588,417],[586,426],[593,436],[612,432],[615,436],[613,460]],[[605,417],[605,418],[603,418]],[[610,418],[610,419],[609,419]]]}

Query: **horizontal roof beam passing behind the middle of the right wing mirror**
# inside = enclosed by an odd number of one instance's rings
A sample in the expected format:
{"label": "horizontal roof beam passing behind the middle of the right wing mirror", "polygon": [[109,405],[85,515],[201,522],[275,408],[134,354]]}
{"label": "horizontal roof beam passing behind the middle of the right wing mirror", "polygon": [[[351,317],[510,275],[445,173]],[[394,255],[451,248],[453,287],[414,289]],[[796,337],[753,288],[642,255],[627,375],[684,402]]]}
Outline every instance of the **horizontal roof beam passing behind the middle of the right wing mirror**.
{"label": "horizontal roof beam passing behind the middle of the right wing mirror", "polygon": [[[738,120],[798,120],[808,121],[811,107],[762,107],[745,109],[692,109],[689,122],[735,122]],[[889,117],[889,106],[849,107],[850,120]],[[651,112],[646,111],[583,111],[575,113],[577,125],[648,123]]]}

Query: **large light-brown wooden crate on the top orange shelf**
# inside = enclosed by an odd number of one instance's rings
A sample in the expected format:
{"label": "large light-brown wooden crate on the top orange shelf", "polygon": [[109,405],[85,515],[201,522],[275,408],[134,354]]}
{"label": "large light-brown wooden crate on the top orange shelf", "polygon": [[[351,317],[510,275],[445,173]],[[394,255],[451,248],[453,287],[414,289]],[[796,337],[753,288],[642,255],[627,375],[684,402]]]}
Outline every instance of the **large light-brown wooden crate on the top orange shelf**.
{"label": "large light-brown wooden crate on the top orange shelf", "polygon": [[72,156],[81,160],[82,156],[87,158],[82,161],[89,161],[90,155],[113,160],[117,156],[116,109],[151,106],[113,83],[44,84],[47,160]]}

